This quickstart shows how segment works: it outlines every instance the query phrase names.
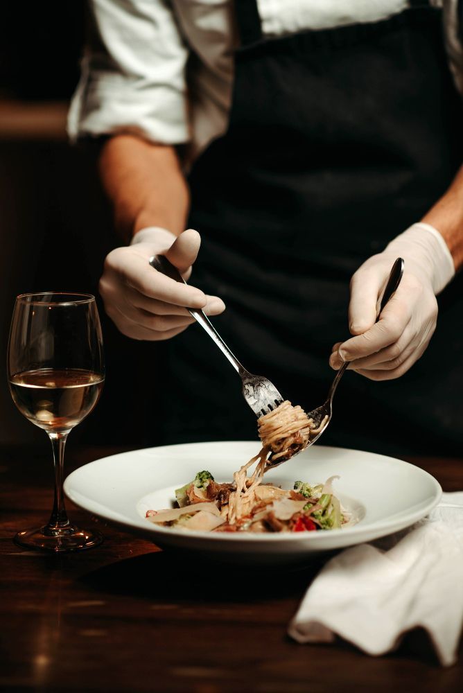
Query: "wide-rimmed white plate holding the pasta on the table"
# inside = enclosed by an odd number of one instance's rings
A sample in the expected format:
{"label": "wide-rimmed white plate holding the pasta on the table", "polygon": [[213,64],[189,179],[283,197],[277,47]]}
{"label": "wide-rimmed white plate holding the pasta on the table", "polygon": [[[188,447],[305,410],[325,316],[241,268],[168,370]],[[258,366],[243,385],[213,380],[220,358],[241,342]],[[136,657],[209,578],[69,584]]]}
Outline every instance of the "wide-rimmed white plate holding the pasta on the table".
{"label": "wide-rimmed white plate holding the pasta on the table", "polygon": [[259,450],[256,441],[192,443],[103,457],[67,477],[69,498],[128,532],[162,547],[228,554],[253,562],[290,561],[312,552],[340,549],[391,534],[420,520],[439,502],[442,489],[427,472],[408,462],[373,453],[313,446],[265,475],[292,489],[295,480],[321,483],[338,474],[335,493],[354,523],[342,529],[296,534],[222,534],[158,527],[148,509],[173,507],[174,489],[209,469],[219,482]]}

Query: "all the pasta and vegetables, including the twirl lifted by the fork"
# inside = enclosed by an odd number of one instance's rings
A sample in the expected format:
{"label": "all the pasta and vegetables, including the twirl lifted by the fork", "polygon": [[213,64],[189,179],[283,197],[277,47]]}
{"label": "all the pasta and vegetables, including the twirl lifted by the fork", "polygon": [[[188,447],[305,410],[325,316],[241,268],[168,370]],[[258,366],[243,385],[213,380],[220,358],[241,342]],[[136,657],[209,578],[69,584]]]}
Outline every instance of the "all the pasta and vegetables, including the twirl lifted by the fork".
{"label": "all the pasta and vegetables, including the twirl lifted by the fork", "polygon": [[[302,407],[284,401],[257,421],[261,451],[233,475],[233,482],[220,484],[209,471],[200,471],[193,481],[175,491],[179,507],[148,510],[150,522],[165,527],[199,529],[203,532],[312,532],[339,529],[347,522],[330,477],[325,484],[310,486],[297,481],[293,489],[263,484],[269,455],[283,462],[306,448],[322,427],[308,419]],[[256,465],[252,475],[247,472]]]}

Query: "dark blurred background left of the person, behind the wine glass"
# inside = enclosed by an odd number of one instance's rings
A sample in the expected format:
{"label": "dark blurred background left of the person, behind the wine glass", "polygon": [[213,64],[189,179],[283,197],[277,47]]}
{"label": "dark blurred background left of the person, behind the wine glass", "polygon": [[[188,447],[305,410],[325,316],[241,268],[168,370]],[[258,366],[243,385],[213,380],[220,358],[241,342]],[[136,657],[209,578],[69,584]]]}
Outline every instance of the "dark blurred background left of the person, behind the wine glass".
{"label": "dark blurred background left of the person, behind the wine glass", "polygon": [[[15,296],[97,293],[103,259],[121,245],[96,172],[97,146],[71,146],[66,113],[79,76],[85,2],[2,3],[0,10],[0,362]],[[119,334],[99,304],[107,379],[71,444],[156,441],[159,348]],[[5,371],[3,371],[5,372]],[[0,380],[0,383],[2,380]],[[42,441],[0,385],[0,442]]]}

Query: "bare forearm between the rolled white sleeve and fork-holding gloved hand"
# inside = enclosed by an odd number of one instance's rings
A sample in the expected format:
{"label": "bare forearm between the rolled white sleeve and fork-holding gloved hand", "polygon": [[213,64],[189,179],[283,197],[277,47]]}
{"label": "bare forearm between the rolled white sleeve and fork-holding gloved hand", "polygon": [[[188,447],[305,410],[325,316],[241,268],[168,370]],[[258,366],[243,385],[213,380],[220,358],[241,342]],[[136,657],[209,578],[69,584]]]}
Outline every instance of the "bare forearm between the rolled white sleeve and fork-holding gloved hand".
{"label": "bare forearm between the rolled white sleeve and fork-holding gloved hand", "polygon": [[105,142],[99,166],[116,230],[124,240],[147,226],[174,234],[184,230],[189,191],[173,147],[116,135]]}

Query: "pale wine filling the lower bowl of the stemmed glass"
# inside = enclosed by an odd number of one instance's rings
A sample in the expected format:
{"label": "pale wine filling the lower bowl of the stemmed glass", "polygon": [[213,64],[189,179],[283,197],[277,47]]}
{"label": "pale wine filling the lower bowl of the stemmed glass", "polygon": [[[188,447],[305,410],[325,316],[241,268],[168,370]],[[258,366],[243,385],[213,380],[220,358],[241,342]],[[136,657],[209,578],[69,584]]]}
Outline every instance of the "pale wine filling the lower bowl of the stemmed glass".
{"label": "pale wine filling the lower bowl of the stemmed glass", "polygon": [[40,368],[10,378],[21,414],[50,432],[68,431],[94,408],[104,377],[79,368]]}

